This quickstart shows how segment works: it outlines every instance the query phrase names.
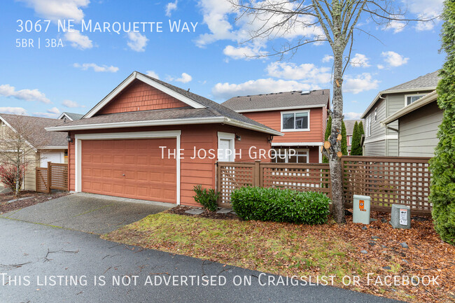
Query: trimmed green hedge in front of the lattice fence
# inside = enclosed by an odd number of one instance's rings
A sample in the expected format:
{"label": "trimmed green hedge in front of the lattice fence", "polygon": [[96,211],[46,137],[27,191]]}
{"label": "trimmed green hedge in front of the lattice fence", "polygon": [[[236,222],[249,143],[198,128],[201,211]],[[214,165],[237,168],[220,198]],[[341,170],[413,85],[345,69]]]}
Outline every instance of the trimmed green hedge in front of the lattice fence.
{"label": "trimmed green hedge in front of the lattice fence", "polygon": [[234,190],[231,202],[244,220],[314,225],[327,222],[330,199],[321,192],[247,187]]}

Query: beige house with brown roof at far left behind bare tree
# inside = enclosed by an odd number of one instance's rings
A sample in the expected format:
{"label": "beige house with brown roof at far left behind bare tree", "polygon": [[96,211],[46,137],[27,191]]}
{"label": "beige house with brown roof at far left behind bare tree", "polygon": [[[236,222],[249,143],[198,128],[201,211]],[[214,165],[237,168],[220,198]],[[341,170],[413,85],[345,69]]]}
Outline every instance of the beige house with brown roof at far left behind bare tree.
{"label": "beige house with brown roof at far left behind bare tree", "polygon": [[[32,163],[27,167],[25,172],[23,190],[36,190],[36,167],[47,167],[47,162],[67,163],[68,162],[68,142],[66,134],[47,132],[45,127],[52,127],[62,124],[62,120],[30,117],[25,115],[10,115],[0,113],[0,139],[8,136],[8,130],[19,129],[18,123],[24,121],[25,125],[36,127],[37,132],[41,134],[38,138],[24,138],[34,149],[35,153],[27,155],[31,157],[27,162]],[[42,138],[45,138],[44,140]],[[0,150],[0,153],[7,153],[6,150]]]}

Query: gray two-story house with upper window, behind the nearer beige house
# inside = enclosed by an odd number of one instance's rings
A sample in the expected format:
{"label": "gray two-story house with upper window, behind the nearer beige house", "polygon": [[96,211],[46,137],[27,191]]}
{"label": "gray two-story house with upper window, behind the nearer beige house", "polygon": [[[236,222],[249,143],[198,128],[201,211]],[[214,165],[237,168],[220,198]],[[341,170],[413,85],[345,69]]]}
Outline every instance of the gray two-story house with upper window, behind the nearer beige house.
{"label": "gray two-story house with upper window, behind the nearer beige house", "polygon": [[383,90],[377,94],[370,106],[361,115],[365,120],[363,155],[398,156],[398,121],[381,125],[381,121],[409,106],[414,101],[436,89],[439,71],[427,73],[414,80]]}

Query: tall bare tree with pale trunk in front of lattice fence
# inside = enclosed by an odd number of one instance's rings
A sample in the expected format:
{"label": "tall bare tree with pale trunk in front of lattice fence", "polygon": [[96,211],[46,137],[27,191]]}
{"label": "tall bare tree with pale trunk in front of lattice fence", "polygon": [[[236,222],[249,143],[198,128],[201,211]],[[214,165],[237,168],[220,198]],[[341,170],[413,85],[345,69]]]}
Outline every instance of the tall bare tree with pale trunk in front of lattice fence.
{"label": "tall bare tree with pale trunk in front of lattice fence", "polygon": [[[281,55],[295,53],[308,43],[327,41],[333,52],[333,97],[332,97],[332,129],[328,141],[322,149],[328,158],[332,183],[333,216],[337,223],[343,223],[344,204],[342,192],[341,132],[343,120],[343,75],[349,66],[354,41],[354,31],[361,29],[359,20],[368,17],[373,22],[389,25],[391,22],[407,24],[412,21],[428,22],[434,18],[407,17],[406,11],[400,7],[401,1],[391,0],[229,0],[239,13],[239,19],[246,19],[251,24],[260,26],[250,31],[251,38],[273,39],[284,37],[296,29],[308,29],[314,34],[311,38],[300,38],[294,42],[281,45],[281,49],[268,54]],[[322,29],[323,34],[316,34]],[[246,41],[244,41],[246,42]]]}

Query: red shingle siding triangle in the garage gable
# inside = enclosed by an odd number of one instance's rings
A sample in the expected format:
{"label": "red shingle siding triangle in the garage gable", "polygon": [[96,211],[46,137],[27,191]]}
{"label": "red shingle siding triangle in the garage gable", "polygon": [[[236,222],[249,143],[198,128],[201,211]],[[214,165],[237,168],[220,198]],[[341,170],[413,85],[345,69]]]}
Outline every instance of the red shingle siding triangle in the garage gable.
{"label": "red shingle siding triangle in the garage gable", "polygon": [[188,105],[155,87],[135,80],[122,93],[106,104],[97,115],[126,113],[130,111],[151,111],[154,109],[179,108]]}

